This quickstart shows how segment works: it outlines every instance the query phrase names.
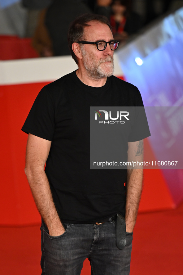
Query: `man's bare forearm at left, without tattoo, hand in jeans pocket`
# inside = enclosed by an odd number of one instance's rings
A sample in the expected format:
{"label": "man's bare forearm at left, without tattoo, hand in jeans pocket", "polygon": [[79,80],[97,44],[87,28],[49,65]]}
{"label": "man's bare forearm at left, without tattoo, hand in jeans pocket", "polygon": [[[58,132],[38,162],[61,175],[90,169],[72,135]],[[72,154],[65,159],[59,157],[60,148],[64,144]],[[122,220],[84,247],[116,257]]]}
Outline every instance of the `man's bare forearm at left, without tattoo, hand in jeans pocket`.
{"label": "man's bare forearm at left, without tattoo, hand in jeans pocket", "polygon": [[63,234],[65,229],[63,228],[55,208],[50,185],[44,169],[37,168],[31,170],[25,168],[25,174],[27,176],[37,209],[46,223],[50,235],[58,236]]}

